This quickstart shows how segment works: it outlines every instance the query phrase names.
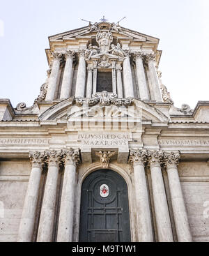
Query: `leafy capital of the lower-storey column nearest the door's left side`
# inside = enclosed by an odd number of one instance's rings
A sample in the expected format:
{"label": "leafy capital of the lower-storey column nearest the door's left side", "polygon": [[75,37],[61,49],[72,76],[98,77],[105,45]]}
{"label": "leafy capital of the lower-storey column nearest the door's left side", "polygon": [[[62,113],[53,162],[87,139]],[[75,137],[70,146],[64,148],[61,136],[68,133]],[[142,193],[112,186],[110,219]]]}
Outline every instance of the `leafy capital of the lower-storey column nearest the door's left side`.
{"label": "leafy capital of the lower-storey column nearest the door's left side", "polygon": [[79,149],[63,151],[63,163],[66,165],[79,165],[81,163]]}

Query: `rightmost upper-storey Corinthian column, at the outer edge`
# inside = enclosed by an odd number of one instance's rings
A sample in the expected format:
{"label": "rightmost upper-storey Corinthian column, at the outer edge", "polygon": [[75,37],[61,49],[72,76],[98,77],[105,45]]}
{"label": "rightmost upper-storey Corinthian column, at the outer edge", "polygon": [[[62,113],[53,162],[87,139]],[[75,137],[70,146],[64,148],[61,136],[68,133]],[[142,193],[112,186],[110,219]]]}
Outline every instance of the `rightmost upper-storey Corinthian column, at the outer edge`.
{"label": "rightmost upper-storey Corinthian column, at the outer edge", "polygon": [[146,55],[146,62],[148,63],[148,69],[150,73],[150,82],[155,95],[156,101],[162,101],[162,94],[160,91],[160,83],[157,77],[157,72],[155,68],[155,56]]}

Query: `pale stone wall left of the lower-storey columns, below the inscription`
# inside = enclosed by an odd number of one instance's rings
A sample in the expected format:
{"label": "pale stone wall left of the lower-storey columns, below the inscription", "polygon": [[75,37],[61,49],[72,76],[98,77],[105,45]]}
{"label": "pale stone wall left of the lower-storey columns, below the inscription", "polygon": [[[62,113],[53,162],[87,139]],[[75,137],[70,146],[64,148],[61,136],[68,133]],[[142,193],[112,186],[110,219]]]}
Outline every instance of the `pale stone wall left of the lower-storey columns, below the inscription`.
{"label": "pale stone wall left of the lower-storey columns, below the inscription", "polygon": [[0,163],[0,242],[17,241],[30,171],[29,160]]}

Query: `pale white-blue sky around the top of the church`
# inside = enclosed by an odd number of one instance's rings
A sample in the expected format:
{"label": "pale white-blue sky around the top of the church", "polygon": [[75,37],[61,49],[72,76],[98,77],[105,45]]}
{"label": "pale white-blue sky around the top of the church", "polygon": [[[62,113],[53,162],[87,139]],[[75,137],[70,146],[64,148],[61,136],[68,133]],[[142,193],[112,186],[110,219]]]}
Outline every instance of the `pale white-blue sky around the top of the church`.
{"label": "pale white-blue sky around the top of the church", "polygon": [[160,38],[162,82],[176,107],[209,100],[209,0],[0,0],[0,98],[33,100],[45,82],[48,36],[109,22]]}

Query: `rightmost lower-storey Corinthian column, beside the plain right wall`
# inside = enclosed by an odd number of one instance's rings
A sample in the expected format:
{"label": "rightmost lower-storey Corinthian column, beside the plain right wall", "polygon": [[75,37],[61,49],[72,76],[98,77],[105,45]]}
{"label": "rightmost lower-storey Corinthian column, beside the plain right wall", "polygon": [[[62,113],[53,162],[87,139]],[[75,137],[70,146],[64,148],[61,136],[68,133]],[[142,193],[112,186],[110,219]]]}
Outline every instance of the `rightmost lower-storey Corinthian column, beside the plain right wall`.
{"label": "rightmost lower-storey Corinthian column, beside the plain right wall", "polygon": [[176,225],[178,242],[192,242],[192,235],[189,229],[187,211],[180,186],[180,179],[178,176],[177,166],[179,159],[179,152],[164,153],[164,164],[167,167],[167,173],[169,178],[171,203],[173,208],[173,216]]}

